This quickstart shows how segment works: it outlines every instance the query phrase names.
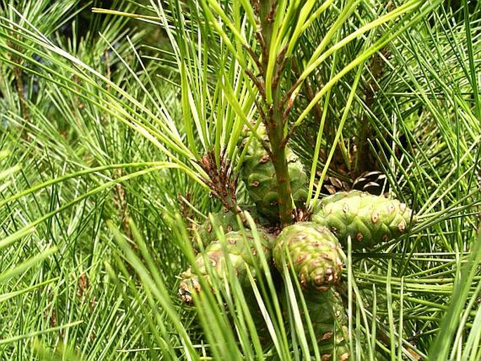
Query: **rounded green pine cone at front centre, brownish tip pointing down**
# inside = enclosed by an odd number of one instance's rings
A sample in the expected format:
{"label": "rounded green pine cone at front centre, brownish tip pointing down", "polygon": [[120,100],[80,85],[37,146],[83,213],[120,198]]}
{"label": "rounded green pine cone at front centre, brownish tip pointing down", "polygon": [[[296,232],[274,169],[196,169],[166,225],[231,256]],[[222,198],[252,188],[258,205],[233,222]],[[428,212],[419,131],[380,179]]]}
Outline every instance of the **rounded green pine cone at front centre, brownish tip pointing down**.
{"label": "rounded green pine cone at front centre, brownish tip pointing down", "polygon": [[341,279],[344,254],[338,239],[328,228],[299,222],[282,230],[272,249],[277,269],[282,272],[286,254],[305,290],[325,291]]}

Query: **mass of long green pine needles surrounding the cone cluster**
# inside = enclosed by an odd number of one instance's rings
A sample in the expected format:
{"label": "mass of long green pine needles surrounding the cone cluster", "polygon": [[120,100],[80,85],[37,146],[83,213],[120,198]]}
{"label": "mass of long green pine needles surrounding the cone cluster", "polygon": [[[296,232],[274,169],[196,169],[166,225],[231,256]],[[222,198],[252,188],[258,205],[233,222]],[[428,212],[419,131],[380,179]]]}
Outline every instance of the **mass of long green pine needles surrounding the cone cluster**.
{"label": "mass of long green pine needles surrounding the cone cluster", "polygon": [[[279,312],[278,275],[258,286],[270,346],[235,281],[196,307],[177,294],[192,228],[221,209],[198,161],[227,150],[237,164],[258,117],[239,3],[0,2],[2,360],[305,357],[309,327]],[[352,355],[480,360],[481,5],[325,4],[281,86],[328,39],[289,113],[310,201],[381,171],[419,219],[407,237],[346,250]]]}

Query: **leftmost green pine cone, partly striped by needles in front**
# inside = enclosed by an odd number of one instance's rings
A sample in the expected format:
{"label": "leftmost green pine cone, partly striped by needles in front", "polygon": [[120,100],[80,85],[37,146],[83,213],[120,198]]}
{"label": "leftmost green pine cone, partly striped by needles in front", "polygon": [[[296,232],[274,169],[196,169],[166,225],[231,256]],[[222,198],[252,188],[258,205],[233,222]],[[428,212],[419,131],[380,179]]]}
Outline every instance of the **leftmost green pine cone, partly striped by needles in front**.
{"label": "leftmost green pine cone, partly striped by needles in front", "polygon": [[[264,247],[263,253],[265,254],[265,258],[270,261],[272,258],[272,236],[261,230],[258,230],[258,233]],[[252,233],[249,230],[246,230],[246,238],[244,239],[241,232],[230,232],[225,235],[225,240],[222,242],[224,241],[225,244],[221,244],[220,240],[216,240],[209,244],[204,250],[205,257],[204,254],[197,255],[195,263],[198,268],[198,273],[195,273],[195,270],[190,267],[180,275],[181,281],[178,294],[183,302],[192,303],[192,294],[194,292],[198,293],[202,291],[199,277],[205,277],[207,282],[212,284],[209,280],[209,271],[206,261],[211,264],[213,272],[216,273],[218,277],[228,277],[228,268],[225,261],[225,258],[228,257],[242,287],[250,284],[246,271],[248,268],[253,277],[257,276],[255,265],[261,263],[261,258],[254,247]],[[226,254],[223,251],[223,247],[225,247],[227,251]]]}

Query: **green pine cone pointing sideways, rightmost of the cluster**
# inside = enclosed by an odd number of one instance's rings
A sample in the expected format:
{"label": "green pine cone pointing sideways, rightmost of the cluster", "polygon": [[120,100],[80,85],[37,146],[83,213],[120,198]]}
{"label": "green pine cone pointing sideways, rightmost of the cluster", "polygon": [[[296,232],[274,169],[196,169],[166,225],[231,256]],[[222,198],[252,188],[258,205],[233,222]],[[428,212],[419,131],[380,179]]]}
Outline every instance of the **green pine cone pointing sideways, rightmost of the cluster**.
{"label": "green pine cone pointing sideways, rightmost of the cluster", "polygon": [[[311,221],[324,225],[347,247],[374,247],[399,237],[411,226],[412,211],[397,199],[351,190],[325,197],[315,206]],[[413,223],[416,217],[413,217]]]}

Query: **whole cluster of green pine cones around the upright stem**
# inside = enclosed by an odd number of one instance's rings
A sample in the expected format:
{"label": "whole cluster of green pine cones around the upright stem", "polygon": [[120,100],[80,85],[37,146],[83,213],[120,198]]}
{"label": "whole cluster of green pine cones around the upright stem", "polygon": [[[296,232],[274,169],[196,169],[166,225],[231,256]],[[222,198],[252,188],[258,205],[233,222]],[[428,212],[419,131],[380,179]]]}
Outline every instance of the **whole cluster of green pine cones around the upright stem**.
{"label": "whole cluster of green pine cones around the upright stem", "polygon": [[[313,207],[310,221],[287,225],[279,232],[279,227],[275,226],[279,222],[277,178],[263,146],[263,143],[268,144],[268,137],[263,126],[258,128],[260,139],[249,134],[246,132],[242,141],[245,151],[239,176],[251,201],[243,208],[254,215],[263,256],[279,273],[288,269],[296,275],[307,306],[307,313],[301,312],[301,316],[312,324],[321,359],[349,360],[348,322],[338,293],[345,265],[343,247],[347,248],[349,237],[352,249],[375,247],[406,233],[416,217],[406,204],[396,199],[352,190],[324,197]],[[286,148],[286,161],[292,202],[303,207],[307,199],[307,173],[289,147]],[[254,247],[253,230],[249,229],[245,218],[243,221],[244,225],[235,212],[221,211],[201,225],[197,243],[202,243],[204,251],[197,254],[196,267],[180,276],[179,294],[185,303],[192,303],[193,294],[205,291],[199,282],[201,277],[209,285],[209,291],[215,292],[215,284],[222,282],[212,282],[211,277],[227,280],[229,264],[246,290],[244,295],[249,309],[256,313],[256,326],[265,334],[267,328],[258,312],[258,302],[248,277],[249,274],[254,279],[262,276],[258,274],[261,255]],[[214,225],[221,226],[224,237],[218,237],[220,233],[215,231]],[[246,227],[244,232],[242,227]],[[213,272],[209,272],[209,268]]]}

